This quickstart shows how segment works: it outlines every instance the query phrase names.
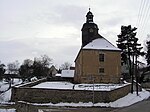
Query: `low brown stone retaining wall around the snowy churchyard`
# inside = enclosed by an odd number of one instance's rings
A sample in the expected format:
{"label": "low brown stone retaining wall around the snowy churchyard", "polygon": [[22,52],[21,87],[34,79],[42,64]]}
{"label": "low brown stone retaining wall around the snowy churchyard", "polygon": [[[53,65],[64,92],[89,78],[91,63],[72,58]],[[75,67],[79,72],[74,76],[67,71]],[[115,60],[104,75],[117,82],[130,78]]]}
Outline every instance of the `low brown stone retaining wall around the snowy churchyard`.
{"label": "low brown stone retaining wall around the snowy churchyard", "polygon": [[[131,85],[128,84],[112,91],[95,91],[94,102],[115,101],[127,95],[130,92],[130,86]],[[11,100],[31,103],[93,102],[93,91],[13,87]]]}

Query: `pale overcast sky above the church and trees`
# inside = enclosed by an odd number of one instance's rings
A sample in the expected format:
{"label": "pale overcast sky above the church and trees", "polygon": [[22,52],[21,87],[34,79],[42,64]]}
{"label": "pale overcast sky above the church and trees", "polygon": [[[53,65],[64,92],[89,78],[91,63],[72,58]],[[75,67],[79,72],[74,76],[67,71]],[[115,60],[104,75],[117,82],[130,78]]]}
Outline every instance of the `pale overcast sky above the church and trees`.
{"label": "pale overcast sky above the church and trees", "polygon": [[[81,47],[81,28],[89,6],[99,33],[116,45],[121,25],[137,27],[140,3],[141,0],[0,0],[0,60],[5,64],[15,60],[22,63],[46,54],[54,65],[66,61],[73,64]],[[150,21],[146,22],[140,43],[150,33],[148,27]]]}

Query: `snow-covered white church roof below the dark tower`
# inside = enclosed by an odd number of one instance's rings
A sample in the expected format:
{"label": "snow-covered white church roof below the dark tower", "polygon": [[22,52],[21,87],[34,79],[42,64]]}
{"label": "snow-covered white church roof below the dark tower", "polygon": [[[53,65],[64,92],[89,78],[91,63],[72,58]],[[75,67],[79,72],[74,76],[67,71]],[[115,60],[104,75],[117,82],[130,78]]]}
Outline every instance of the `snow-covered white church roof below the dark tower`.
{"label": "snow-covered white church roof below the dark tower", "polygon": [[97,38],[92,42],[88,43],[82,49],[97,49],[97,50],[113,50],[113,51],[121,51],[121,49],[115,47],[105,38]]}

